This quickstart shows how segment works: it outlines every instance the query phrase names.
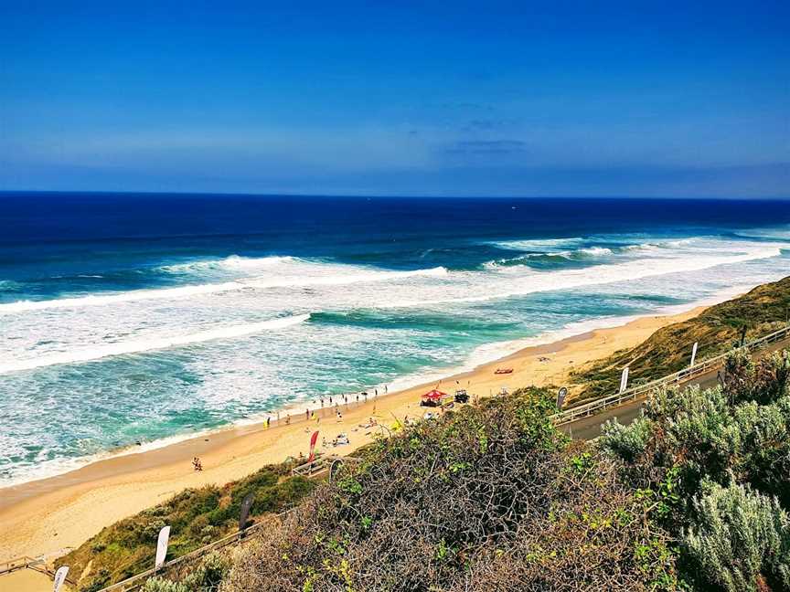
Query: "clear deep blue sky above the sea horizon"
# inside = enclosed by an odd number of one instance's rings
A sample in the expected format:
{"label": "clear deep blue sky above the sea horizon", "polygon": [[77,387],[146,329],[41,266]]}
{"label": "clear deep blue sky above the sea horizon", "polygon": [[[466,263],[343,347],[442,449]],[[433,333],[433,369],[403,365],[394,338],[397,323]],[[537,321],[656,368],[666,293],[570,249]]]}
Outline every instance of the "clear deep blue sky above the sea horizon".
{"label": "clear deep blue sky above the sea horizon", "polygon": [[0,190],[790,197],[790,3],[428,4],[0,1]]}

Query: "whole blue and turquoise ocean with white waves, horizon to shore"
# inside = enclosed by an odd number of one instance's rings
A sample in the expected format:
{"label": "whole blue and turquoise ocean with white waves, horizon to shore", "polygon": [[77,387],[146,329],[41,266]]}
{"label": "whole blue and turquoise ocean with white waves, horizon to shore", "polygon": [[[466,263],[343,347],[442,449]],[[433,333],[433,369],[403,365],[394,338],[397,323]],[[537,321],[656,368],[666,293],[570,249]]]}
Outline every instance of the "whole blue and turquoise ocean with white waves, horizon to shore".
{"label": "whole blue and turquoise ocean with white waves, horizon to shore", "polygon": [[0,194],[0,485],[790,274],[790,202]]}

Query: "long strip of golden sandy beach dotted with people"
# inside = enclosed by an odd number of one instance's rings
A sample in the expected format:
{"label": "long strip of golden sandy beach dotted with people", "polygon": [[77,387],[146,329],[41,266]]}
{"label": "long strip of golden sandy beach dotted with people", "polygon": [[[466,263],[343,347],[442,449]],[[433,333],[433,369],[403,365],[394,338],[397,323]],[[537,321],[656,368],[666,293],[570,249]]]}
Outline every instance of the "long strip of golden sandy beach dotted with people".
{"label": "long strip of golden sandy beach dotted with people", "polygon": [[[471,395],[488,396],[502,386],[511,390],[529,385],[559,386],[572,367],[633,347],[658,328],[689,319],[702,310],[642,317],[554,344],[528,347],[472,372],[449,376],[439,388],[452,392],[458,380]],[[513,373],[495,375],[497,367],[512,367]],[[222,484],[262,465],[300,452],[306,454],[315,428],[320,431],[319,448],[322,438],[331,440],[338,432],[347,432],[350,446],[325,449],[347,454],[373,439],[375,429],[358,427],[371,416],[387,425],[394,424],[396,418],[422,417],[419,396],[435,384],[376,399],[370,396],[367,404],[341,407],[342,422],[336,421],[334,409],[325,409],[317,426],[315,420],[306,422],[303,412],[290,425],[283,421],[283,425],[268,429],[265,425],[227,429],[162,449],[100,460],[51,479],[0,489],[0,560],[19,555],[57,556],[102,527],[164,502],[186,487]],[[192,470],[195,456],[202,460],[202,472]]]}

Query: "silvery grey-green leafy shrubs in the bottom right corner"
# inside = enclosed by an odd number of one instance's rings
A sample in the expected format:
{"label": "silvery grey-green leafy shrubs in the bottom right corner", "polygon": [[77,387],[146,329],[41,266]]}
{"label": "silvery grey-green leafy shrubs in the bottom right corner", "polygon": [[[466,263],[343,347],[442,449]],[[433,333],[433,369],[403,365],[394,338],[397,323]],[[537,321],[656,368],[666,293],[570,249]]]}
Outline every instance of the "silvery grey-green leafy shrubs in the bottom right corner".
{"label": "silvery grey-green leafy shrubs in the bottom right corner", "polygon": [[790,590],[787,352],[728,356],[722,386],[661,390],[642,417],[603,428],[601,449],[677,541],[692,589]]}

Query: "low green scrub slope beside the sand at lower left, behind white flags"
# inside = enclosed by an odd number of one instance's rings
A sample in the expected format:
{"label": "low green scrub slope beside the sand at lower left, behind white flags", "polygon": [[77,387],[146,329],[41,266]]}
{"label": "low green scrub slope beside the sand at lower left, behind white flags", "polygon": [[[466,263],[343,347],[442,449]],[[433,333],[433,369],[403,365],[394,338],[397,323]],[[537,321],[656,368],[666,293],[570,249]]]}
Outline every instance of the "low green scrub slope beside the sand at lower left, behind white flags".
{"label": "low green scrub slope beside the sand at lower left, behind white flags", "polygon": [[[241,501],[248,493],[255,495],[250,513],[253,521],[300,502],[315,488],[315,481],[292,477],[292,467],[293,463],[269,465],[223,487],[208,485],[184,490],[167,502],[102,529],[59,558],[57,566],[69,566],[72,577],[78,578],[80,592],[100,590],[153,567],[156,538],[167,524],[171,527],[167,559],[186,555],[235,531]],[[199,569],[208,576],[191,577],[187,580],[187,584],[191,583],[189,589],[200,589],[197,581],[211,581],[212,574],[216,576],[218,572],[213,564]]]}

